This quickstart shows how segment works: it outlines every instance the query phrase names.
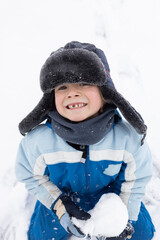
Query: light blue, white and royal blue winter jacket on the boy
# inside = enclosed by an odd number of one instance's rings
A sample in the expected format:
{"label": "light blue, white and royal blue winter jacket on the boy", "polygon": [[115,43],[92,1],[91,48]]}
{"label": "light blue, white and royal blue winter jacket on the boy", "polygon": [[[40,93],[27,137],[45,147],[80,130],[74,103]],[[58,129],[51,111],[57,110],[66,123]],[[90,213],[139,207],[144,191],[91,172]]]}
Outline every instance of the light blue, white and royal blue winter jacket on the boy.
{"label": "light blue, white and royal blue winter jacket on the boy", "polygon": [[21,141],[16,176],[28,191],[51,209],[62,192],[68,192],[88,211],[100,196],[117,193],[136,221],[145,186],[151,177],[151,154],[142,136],[125,121],[114,126],[97,144],[88,146],[82,161],[78,151],[42,124]]}

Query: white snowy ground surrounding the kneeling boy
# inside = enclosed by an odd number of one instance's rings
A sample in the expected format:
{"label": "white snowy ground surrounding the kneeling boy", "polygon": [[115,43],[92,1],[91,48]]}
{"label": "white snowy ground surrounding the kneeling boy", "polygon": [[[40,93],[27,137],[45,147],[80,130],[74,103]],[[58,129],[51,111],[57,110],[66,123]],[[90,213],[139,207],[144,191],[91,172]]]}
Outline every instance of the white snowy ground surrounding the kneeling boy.
{"label": "white snowy ground surrounding the kneeling boy", "polygon": [[69,41],[107,56],[116,88],[148,126],[153,177],[144,202],[160,239],[160,1],[5,0],[0,2],[0,239],[25,240],[34,199],[17,183],[18,123],[42,96],[39,72]]}

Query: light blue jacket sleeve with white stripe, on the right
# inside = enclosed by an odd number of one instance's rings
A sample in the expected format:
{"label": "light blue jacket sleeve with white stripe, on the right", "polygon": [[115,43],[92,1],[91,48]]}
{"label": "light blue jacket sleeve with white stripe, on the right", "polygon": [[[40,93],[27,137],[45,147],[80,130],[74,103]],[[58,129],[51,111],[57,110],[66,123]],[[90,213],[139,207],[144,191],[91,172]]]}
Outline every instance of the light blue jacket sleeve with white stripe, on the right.
{"label": "light blue jacket sleeve with white stripe, on the right", "polygon": [[123,164],[114,190],[128,208],[129,220],[136,221],[145,195],[146,185],[152,176],[152,157],[146,143],[141,146],[141,137],[130,135],[124,151]]}

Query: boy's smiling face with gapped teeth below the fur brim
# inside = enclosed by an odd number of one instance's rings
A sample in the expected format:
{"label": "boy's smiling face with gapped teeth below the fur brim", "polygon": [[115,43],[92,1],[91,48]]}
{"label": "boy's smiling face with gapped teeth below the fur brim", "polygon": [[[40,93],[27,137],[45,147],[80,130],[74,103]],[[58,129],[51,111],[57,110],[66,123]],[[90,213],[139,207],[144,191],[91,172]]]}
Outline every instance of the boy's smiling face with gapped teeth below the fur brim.
{"label": "boy's smiling face with gapped teeth below the fur brim", "polygon": [[79,122],[94,117],[103,106],[103,100],[97,86],[63,84],[55,88],[55,105],[61,116]]}

